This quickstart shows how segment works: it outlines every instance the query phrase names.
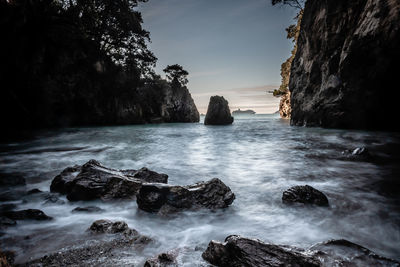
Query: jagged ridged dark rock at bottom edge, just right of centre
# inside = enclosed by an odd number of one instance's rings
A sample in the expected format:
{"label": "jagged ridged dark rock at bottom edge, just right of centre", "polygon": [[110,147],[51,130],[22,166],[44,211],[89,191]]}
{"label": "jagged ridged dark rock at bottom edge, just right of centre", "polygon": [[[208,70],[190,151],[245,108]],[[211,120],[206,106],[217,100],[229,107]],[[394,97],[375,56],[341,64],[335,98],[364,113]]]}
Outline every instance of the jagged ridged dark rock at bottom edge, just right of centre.
{"label": "jagged ridged dark rock at bottom edge, just right of centre", "polygon": [[316,257],[300,249],[266,244],[240,236],[228,236],[224,243],[211,241],[202,257],[220,267],[321,265]]}

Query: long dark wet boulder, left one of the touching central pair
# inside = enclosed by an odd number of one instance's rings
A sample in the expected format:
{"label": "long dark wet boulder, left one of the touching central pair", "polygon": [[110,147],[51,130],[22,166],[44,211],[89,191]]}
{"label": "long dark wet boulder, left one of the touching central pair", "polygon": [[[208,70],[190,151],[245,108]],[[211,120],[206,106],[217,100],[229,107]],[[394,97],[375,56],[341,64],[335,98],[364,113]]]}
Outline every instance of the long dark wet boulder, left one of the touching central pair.
{"label": "long dark wet boulder, left one of the touching central pair", "polygon": [[143,182],[166,183],[168,175],[142,168],[114,170],[95,160],[82,166],[68,167],[57,175],[50,186],[52,192],[67,194],[70,201],[133,198]]}

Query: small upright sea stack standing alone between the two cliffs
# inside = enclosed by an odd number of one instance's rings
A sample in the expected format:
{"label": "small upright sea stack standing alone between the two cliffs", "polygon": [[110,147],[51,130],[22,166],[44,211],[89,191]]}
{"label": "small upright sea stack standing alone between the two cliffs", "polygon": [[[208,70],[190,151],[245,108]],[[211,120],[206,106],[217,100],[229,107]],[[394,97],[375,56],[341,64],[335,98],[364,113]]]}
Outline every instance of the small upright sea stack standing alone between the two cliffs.
{"label": "small upright sea stack standing alone between the two cliffs", "polygon": [[212,96],[208,104],[205,125],[232,124],[233,117],[229,109],[228,101],[223,96]]}

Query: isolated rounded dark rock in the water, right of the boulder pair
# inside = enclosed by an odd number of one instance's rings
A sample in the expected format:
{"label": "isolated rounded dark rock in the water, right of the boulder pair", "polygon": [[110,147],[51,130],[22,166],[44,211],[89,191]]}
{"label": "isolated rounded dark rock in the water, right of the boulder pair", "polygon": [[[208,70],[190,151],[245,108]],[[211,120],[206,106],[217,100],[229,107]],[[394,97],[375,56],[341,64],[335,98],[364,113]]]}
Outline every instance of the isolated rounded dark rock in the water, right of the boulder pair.
{"label": "isolated rounded dark rock in the water, right of the boulder pair", "polygon": [[293,186],[283,192],[282,202],[285,204],[311,204],[329,206],[328,198],[317,189],[309,185]]}

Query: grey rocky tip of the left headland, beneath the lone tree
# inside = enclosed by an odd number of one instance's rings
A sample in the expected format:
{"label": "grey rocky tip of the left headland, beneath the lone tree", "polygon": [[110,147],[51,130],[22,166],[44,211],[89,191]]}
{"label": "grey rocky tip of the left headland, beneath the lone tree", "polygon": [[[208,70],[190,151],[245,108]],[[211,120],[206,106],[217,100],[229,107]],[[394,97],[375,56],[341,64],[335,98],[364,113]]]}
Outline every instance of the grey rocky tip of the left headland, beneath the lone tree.
{"label": "grey rocky tip of the left headland, beneath the lone tree", "polygon": [[186,86],[169,86],[164,89],[161,116],[164,122],[199,122],[199,111]]}

